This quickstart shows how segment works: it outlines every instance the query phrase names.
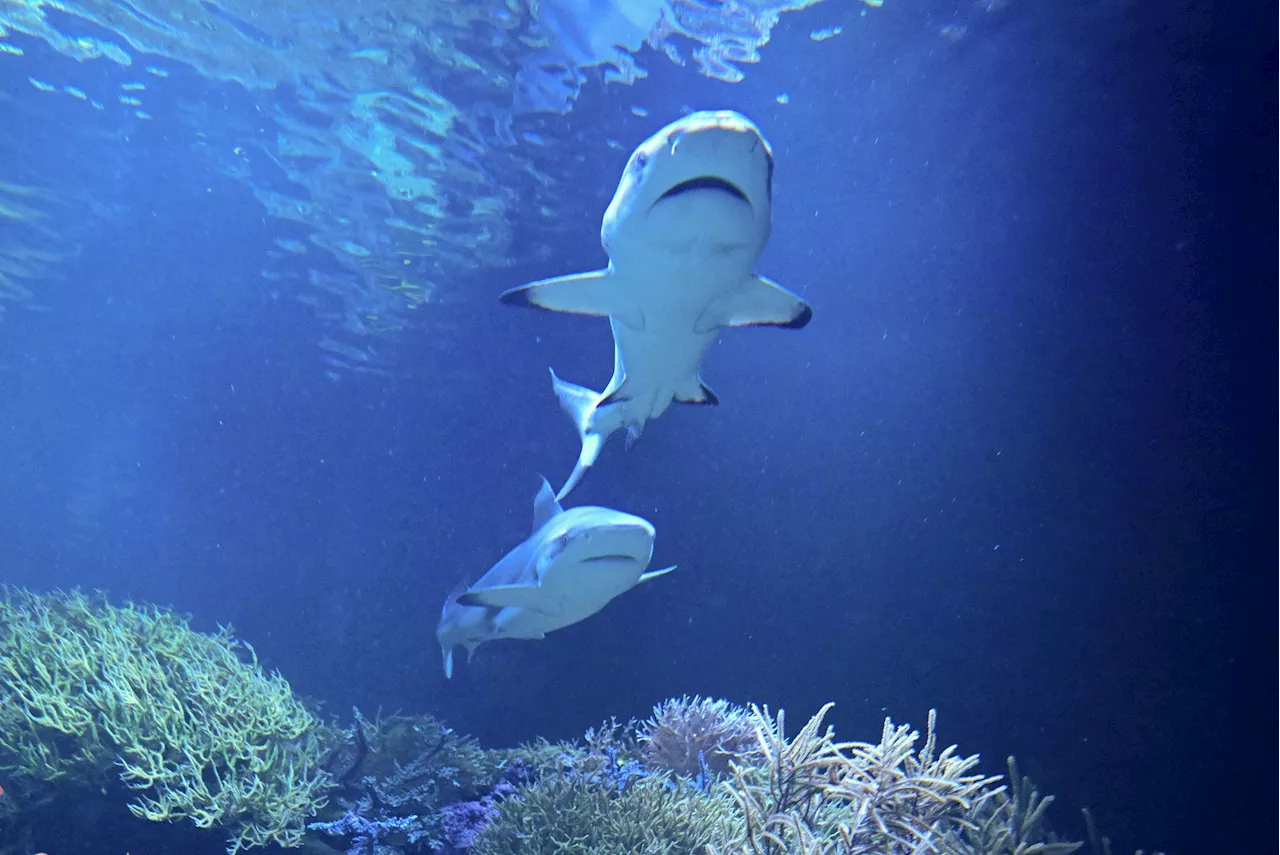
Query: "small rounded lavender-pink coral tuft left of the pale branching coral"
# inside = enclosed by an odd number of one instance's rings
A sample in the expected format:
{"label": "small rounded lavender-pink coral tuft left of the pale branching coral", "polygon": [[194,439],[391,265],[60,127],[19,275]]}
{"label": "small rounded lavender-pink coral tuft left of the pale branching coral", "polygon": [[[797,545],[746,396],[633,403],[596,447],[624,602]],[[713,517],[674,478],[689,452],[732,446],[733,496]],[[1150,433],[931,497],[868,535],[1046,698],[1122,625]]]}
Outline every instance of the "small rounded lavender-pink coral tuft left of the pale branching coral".
{"label": "small rounded lavender-pink coral tuft left of the pale branching coral", "polygon": [[759,759],[755,726],[745,707],[727,700],[672,698],[639,728],[645,765],[686,778],[723,776],[730,762]]}

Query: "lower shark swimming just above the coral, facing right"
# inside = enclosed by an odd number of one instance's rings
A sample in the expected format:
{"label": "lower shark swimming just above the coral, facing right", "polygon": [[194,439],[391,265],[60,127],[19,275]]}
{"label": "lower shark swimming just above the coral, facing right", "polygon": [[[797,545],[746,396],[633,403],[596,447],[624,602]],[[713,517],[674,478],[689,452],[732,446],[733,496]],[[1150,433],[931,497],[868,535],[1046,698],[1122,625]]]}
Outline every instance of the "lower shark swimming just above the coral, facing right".
{"label": "lower shark swimming just above the coral, facing right", "polygon": [[564,509],[543,479],[534,497],[532,532],[474,585],[452,593],[440,609],[435,639],[444,676],[453,677],[453,651],[467,662],[485,641],[540,640],[577,623],[636,585],[676,567],[648,570],[653,525],[602,507]]}

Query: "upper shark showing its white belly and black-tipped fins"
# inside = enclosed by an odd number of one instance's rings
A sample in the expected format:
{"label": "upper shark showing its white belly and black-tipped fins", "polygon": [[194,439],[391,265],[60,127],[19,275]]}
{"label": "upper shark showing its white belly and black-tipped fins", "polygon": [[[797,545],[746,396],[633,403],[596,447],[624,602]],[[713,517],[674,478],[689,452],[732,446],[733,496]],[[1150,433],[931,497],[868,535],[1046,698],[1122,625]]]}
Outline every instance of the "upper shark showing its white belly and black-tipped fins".
{"label": "upper shark showing its white belly and black-tipped fins", "polygon": [[552,370],[581,439],[557,499],[613,433],[626,430],[631,447],[672,402],[719,403],[701,362],[722,329],[800,329],[813,317],[808,302],[755,271],[772,201],[773,148],[760,129],[732,110],[691,113],[627,160],[600,224],[607,268],[503,292],[507,305],[607,316],[613,332],[613,376],[602,392]]}

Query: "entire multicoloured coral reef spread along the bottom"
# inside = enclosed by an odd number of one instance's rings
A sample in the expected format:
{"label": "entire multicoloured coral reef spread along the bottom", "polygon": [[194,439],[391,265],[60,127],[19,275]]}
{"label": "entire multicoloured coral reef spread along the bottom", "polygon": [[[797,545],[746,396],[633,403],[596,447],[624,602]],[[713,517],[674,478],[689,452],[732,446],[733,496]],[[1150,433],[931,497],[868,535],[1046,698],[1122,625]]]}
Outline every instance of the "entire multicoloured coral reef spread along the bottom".
{"label": "entire multicoloured coral reef spread along the bottom", "polygon": [[[577,741],[509,750],[484,750],[429,715],[370,722],[355,710],[338,731],[230,630],[195,632],[163,609],[79,591],[4,589],[0,701],[0,852],[29,851],[36,817],[76,804],[76,792],[128,797],[141,819],[229,832],[232,855],[266,845],[347,855],[1082,846],[1046,828],[1053,799],[1012,758],[1002,778],[975,772],[977,755],[940,750],[933,710],[923,741],[888,718],[878,742],[837,741],[832,704],[788,736],[782,710],[698,696],[658,704],[644,722],[611,718]],[[1085,819],[1094,851],[1108,852]]]}

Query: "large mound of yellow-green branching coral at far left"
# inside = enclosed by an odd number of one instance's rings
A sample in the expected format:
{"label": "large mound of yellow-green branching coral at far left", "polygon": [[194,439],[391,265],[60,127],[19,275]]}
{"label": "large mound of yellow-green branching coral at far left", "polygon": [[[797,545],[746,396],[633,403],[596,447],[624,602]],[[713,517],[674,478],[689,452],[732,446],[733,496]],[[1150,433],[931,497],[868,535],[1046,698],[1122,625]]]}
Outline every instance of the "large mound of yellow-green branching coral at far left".
{"label": "large mound of yellow-green branching coral at far left", "polygon": [[78,590],[0,599],[0,771],[29,783],[113,768],[155,822],[230,833],[228,851],[302,842],[325,804],[325,727],[227,627]]}

